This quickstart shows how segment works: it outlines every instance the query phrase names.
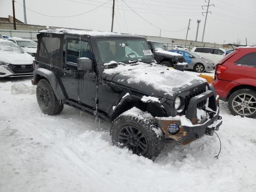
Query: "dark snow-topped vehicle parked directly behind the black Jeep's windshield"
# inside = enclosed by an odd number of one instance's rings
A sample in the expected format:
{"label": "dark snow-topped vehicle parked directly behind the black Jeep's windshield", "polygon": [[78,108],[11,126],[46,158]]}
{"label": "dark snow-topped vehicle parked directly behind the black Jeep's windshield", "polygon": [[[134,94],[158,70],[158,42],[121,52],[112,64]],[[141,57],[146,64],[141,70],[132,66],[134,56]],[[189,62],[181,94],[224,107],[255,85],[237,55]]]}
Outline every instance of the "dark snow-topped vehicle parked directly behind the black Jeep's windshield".
{"label": "dark snow-topped vehicle parked directly behind the black Jeep's windshield", "polygon": [[154,59],[160,65],[173,67],[174,69],[184,71],[188,67],[183,56],[177,53],[171,53],[164,49],[164,45],[156,41],[148,41]]}

